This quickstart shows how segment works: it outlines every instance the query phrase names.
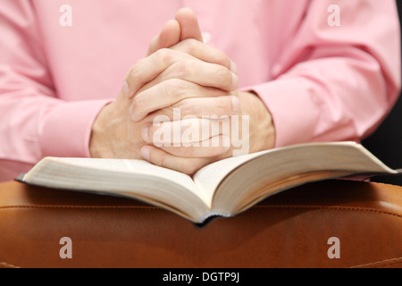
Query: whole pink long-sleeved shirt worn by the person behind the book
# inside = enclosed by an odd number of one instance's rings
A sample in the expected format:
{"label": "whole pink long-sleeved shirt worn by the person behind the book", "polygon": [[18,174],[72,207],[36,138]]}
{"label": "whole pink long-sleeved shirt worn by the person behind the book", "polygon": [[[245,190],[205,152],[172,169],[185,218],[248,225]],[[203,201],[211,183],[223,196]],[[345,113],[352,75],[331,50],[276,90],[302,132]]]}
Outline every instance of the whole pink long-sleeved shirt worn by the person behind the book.
{"label": "whole pink long-sleeved shirt worn by the person behind the book", "polygon": [[361,139],[398,97],[394,0],[1,2],[0,181],[43,156],[89,156],[96,114],[183,6],[264,100],[276,147]]}

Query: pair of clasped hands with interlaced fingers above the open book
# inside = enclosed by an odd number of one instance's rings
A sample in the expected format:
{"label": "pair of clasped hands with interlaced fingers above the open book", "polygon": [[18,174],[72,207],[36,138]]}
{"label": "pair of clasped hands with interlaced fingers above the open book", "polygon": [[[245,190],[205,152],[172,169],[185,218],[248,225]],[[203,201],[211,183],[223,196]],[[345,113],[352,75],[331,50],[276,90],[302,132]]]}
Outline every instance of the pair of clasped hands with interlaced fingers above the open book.
{"label": "pair of clasped hands with interlaced fingers above the open book", "polygon": [[91,156],[145,159],[193,174],[244,152],[244,144],[246,153],[273,147],[270,113],[238,88],[236,64],[205,45],[196,15],[181,9],[96,117]]}

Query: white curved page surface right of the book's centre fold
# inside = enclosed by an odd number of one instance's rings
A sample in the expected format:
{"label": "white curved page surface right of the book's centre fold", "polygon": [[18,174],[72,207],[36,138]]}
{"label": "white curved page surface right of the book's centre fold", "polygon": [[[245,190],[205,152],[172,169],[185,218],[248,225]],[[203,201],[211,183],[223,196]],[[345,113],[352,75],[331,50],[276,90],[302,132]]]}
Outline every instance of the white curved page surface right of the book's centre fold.
{"label": "white curved page surface right of the book's centre fold", "polygon": [[264,153],[270,151],[263,151],[254,154],[248,154],[244,156],[230,157],[213,164],[206,165],[200,169],[193,176],[193,181],[196,183],[197,189],[199,189],[199,196],[205,201],[207,206],[211,207],[212,200],[214,198],[214,191],[218,188],[221,181],[239,165],[245,162],[261,156]]}

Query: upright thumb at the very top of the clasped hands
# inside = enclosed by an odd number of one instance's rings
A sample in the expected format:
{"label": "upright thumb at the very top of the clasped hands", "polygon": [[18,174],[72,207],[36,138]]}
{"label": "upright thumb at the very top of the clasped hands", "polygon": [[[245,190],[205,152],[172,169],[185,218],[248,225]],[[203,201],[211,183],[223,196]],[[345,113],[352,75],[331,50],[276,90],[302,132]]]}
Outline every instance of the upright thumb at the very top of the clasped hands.
{"label": "upright thumb at the very top of the clasped hands", "polygon": [[190,8],[181,8],[178,13],[176,13],[176,21],[180,24],[180,41],[187,38],[195,38],[198,41],[203,41],[197,15]]}

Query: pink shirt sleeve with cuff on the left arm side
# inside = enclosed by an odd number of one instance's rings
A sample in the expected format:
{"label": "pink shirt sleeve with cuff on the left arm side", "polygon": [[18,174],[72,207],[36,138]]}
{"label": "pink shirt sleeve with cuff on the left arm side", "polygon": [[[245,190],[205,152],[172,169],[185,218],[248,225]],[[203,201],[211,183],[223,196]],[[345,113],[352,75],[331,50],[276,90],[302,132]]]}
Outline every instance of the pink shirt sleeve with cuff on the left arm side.
{"label": "pink shirt sleeve with cuff on the left arm side", "polygon": [[0,6],[0,157],[35,164],[43,156],[89,156],[92,122],[109,100],[57,98],[29,3]]}

